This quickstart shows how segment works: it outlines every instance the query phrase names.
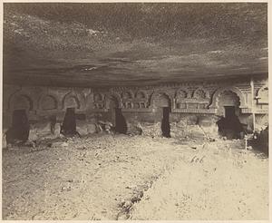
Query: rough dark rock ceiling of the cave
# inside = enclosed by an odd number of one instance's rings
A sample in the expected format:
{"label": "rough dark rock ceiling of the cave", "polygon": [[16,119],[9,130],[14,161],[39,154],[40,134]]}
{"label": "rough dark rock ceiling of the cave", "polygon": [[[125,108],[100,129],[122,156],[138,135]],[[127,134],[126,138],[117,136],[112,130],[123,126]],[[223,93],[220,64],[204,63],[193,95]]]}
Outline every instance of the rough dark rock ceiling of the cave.
{"label": "rough dark rock ceiling of the cave", "polygon": [[4,82],[142,85],[267,74],[267,4],[5,4]]}

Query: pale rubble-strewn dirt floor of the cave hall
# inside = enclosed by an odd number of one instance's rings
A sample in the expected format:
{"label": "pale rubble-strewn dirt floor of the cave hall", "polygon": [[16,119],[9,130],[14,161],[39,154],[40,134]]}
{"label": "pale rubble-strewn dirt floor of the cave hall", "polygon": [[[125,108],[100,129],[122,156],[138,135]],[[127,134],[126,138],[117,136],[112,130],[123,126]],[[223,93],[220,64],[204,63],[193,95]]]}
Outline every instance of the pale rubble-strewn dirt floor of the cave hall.
{"label": "pale rubble-strewn dirt floor of the cave hall", "polygon": [[3,151],[4,219],[267,219],[268,159],[243,141],[93,135]]}

